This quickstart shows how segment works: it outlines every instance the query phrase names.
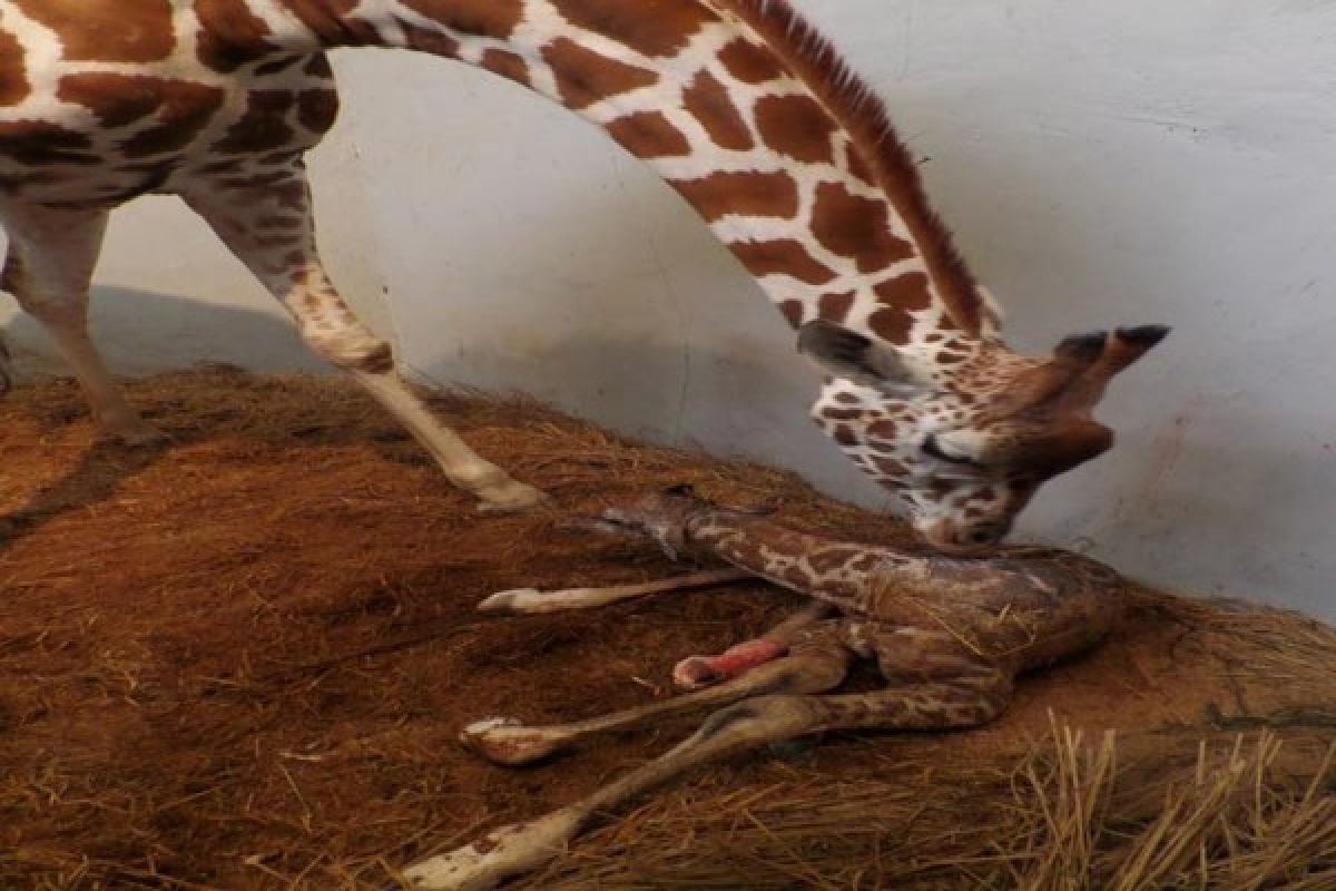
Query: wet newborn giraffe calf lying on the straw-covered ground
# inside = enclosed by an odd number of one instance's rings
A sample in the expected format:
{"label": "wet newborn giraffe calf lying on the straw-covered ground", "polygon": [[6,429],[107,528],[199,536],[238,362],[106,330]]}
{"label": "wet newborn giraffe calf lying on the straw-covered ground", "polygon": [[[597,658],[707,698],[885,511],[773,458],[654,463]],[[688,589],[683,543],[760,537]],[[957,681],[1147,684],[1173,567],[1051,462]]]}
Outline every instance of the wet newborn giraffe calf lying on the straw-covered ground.
{"label": "wet newborn giraffe calf lying on the straw-covered ground", "polygon": [[[684,671],[695,661],[688,660],[679,675],[699,688],[672,700],[553,727],[501,719],[469,725],[462,735],[469,748],[517,765],[599,733],[723,707],[668,753],[593,795],[413,867],[406,875],[417,887],[494,887],[557,856],[581,831],[645,792],[767,743],[836,729],[977,727],[1006,707],[1017,675],[1096,645],[1125,605],[1121,576],[1065,550],[1002,548],[967,556],[831,541],[719,508],[687,489],[609,509],[604,518],[652,537],[675,557],[721,560],[810,594],[834,608],[835,617],[807,612],[745,645],[740,659],[716,660],[713,667],[724,665],[716,675],[725,679],[713,685]],[[566,592],[560,606],[607,600],[597,589],[582,589]],[[528,592],[500,594],[485,608],[542,609]],[[875,659],[886,687],[820,695],[844,680],[855,657]]]}

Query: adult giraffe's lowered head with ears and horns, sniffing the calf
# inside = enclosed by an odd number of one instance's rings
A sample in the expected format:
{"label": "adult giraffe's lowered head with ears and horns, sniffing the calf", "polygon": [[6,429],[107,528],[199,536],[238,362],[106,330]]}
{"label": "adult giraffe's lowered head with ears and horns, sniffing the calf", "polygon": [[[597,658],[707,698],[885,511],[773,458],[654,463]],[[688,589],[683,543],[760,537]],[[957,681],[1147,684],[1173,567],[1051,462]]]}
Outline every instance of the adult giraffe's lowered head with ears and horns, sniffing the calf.
{"label": "adult giraffe's lowered head with ears and horns, sniffing the calf", "polygon": [[828,322],[799,333],[827,375],[812,418],[888,489],[938,545],[983,545],[1011,530],[1046,480],[1113,445],[1092,417],[1109,379],[1165,338],[1145,326],[1070,337],[1049,358],[981,343],[958,370]]}

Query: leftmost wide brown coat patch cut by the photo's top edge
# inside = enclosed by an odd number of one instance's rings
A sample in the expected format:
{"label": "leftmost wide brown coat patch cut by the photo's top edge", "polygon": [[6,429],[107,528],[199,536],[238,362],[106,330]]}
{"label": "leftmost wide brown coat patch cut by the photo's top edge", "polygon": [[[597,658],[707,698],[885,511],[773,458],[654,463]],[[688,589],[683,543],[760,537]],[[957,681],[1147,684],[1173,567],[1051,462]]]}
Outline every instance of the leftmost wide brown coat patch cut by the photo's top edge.
{"label": "leftmost wide brown coat patch cut by the photo's top edge", "polygon": [[60,35],[67,61],[159,61],[176,45],[171,0],[16,0]]}

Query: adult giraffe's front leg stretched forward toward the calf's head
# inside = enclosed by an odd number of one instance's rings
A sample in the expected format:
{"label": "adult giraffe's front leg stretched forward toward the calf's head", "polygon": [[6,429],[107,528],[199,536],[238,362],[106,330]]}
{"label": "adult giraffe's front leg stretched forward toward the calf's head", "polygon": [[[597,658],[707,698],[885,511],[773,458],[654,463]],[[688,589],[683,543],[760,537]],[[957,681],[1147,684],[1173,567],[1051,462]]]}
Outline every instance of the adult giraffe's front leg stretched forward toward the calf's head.
{"label": "adult giraffe's front leg stretched forward toward the calf's head", "polygon": [[477,496],[480,508],[521,510],[542,502],[538,489],[510,478],[441,423],[398,375],[390,345],[357,319],[325,274],[301,158],[273,167],[257,178],[263,184],[244,175],[254,170],[235,170],[203,180],[183,198],[287,307],[311,349],[393,414],[450,482]]}

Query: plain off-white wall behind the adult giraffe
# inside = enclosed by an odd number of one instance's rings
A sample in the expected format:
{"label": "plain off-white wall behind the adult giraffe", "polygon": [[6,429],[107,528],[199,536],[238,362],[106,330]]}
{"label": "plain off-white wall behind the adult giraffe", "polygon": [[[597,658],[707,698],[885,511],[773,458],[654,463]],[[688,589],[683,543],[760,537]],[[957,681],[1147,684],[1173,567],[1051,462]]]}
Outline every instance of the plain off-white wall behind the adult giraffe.
{"label": "plain off-white wall behind the adult giraffe", "polygon": [[[796,5],[890,100],[1015,345],[1176,326],[1105,402],[1118,448],[1050,484],[1023,533],[1336,618],[1336,4]],[[808,426],[815,381],[778,314],[601,134],[437,60],[338,67],[347,108],[315,159],[326,252],[420,374],[880,501]],[[99,281],[124,371],[310,366],[171,202],[123,212]]]}

